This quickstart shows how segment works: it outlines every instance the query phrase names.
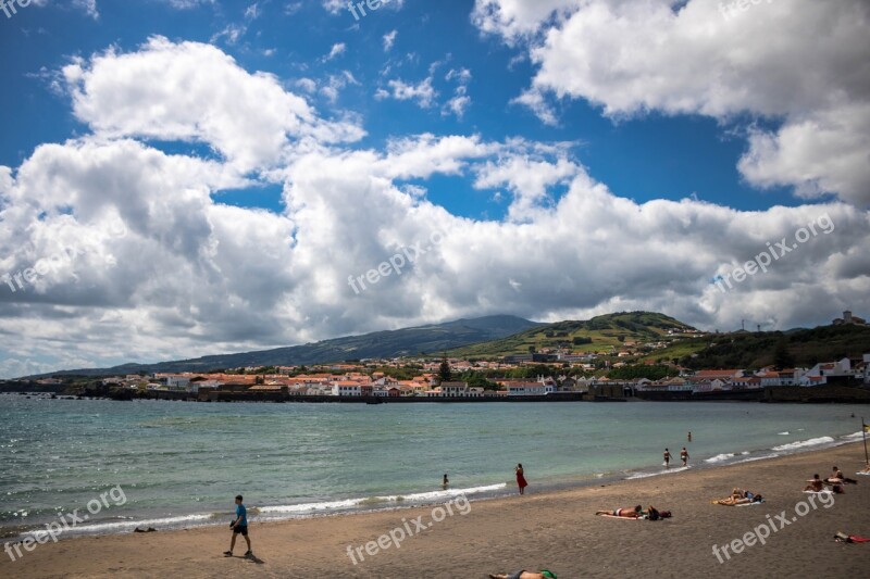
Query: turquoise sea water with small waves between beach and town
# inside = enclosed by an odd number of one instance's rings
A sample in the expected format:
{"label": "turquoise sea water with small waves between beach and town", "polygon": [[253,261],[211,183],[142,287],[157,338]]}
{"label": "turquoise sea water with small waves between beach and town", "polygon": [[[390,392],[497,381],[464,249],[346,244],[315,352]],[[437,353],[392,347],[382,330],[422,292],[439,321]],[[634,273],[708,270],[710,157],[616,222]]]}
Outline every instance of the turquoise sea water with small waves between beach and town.
{"label": "turquoise sea water with small waves between beach and town", "polygon": [[530,492],[652,476],[663,470],[664,446],[672,465],[687,445],[689,465],[712,467],[852,440],[862,411],[722,402],[373,406],[0,395],[0,532],[12,537],[61,513],[86,512],[89,501],[117,486],[124,504],[101,508],[75,532],[224,524],[238,493],[262,519],[389,508],[450,492],[472,499],[515,492],[518,462]]}

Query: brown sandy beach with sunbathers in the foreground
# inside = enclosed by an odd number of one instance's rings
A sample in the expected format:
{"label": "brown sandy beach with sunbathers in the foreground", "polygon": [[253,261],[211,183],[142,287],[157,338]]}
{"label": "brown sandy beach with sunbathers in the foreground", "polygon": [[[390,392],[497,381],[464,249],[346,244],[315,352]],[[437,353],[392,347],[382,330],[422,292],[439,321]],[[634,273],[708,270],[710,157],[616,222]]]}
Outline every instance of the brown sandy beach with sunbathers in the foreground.
{"label": "brown sandy beach with sunbathers in the foreground", "polygon": [[[859,484],[846,487],[825,507],[801,493],[804,481],[838,465]],[[16,562],[2,555],[0,577],[306,577],[306,578],[485,578],[542,567],[559,579],[580,577],[836,577],[870,576],[870,543],[844,544],[837,531],[870,537],[870,477],[855,476],[863,450],[849,444],[832,450],[597,487],[536,493],[534,473],[524,496],[451,506],[452,516],[433,523],[433,507],[393,512],[251,523],[254,561],[225,558],[227,528],[86,537],[37,545]],[[768,496],[753,507],[710,504],[732,487]],[[596,517],[595,511],[652,504],[670,509],[661,521]],[[460,506],[464,508],[460,509]],[[803,516],[796,514],[800,509]],[[465,515],[460,514],[465,512]],[[778,518],[785,512],[790,521]],[[440,518],[442,513],[435,513]],[[769,515],[769,517],[768,517]],[[395,528],[411,529],[422,516],[431,528],[365,553],[365,544]],[[792,520],[792,519],[795,520]],[[406,527],[402,519],[408,523]],[[776,526],[766,544],[744,546],[730,558],[713,554],[759,525]],[[779,527],[783,526],[782,529]],[[769,527],[768,527],[769,530]],[[763,534],[765,530],[759,530]],[[398,537],[398,533],[395,533]],[[382,540],[384,544],[386,539]],[[751,542],[751,539],[749,540]],[[355,565],[348,545],[360,546]],[[737,545],[739,546],[739,545]],[[374,545],[370,545],[373,551]]]}

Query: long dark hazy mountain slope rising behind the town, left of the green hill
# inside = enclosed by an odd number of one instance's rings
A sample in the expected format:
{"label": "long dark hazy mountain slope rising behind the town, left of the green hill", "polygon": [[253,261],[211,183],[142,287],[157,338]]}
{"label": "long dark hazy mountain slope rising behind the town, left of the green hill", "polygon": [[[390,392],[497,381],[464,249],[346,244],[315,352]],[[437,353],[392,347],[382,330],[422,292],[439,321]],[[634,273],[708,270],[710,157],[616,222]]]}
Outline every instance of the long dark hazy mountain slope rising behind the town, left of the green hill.
{"label": "long dark hazy mountain slope rising behind the town, left of the green hill", "polygon": [[[140,372],[206,372],[247,366],[293,366],[343,362],[346,360],[391,358],[421,353],[433,355],[459,345],[504,338],[537,326],[539,324],[515,316],[486,316],[415,328],[375,331],[364,336],[334,338],[332,340],[274,350],[220,354],[154,364],[123,364],[111,368],[61,370],[38,377],[110,376],[138,374]],[[33,378],[38,377],[34,376]]]}

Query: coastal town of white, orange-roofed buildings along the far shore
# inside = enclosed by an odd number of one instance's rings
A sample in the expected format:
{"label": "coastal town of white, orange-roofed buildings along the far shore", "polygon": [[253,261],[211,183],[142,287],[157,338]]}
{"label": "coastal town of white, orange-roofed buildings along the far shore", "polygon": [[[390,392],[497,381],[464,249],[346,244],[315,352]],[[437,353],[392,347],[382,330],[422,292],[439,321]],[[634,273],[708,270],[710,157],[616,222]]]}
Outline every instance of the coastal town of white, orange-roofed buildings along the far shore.
{"label": "coastal town of white, orange-roofed buildings along the far shore", "polygon": [[[834,330],[866,328],[867,322],[846,311],[832,320]],[[780,394],[816,387],[870,385],[870,353],[811,365],[794,362],[783,351],[778,363],[761,367],[710,368],[692,365],[693,356],[657,357],[655,352],[686,340],[721,339],[689,328],[669,329],[657,341],[619,340],[602,350],[585,339],[571,342],[546,335],[555,347],[530,348],[492,358],[470,356],[403,356],[313,365],[245,366],[209,372],[153,372],[97,377],[83,395],[215,401],[424,402],[498,400],[760,400],[765,390]],[[760,332],[759,332],[760,333]],[[737,332],[736,336],[748,336]],[[729,338],[729,340],[732,338]],[[70,376],[32,382],[40,389],[70,393]],[[0,387],[2,387],[0,382]],[[79,382],[80,386],[80,382]],[[862,394],[870,392],[860,388]],[[794,398],[794,397],[793,397]],[[801,394],[803,399],[806,399]]]}

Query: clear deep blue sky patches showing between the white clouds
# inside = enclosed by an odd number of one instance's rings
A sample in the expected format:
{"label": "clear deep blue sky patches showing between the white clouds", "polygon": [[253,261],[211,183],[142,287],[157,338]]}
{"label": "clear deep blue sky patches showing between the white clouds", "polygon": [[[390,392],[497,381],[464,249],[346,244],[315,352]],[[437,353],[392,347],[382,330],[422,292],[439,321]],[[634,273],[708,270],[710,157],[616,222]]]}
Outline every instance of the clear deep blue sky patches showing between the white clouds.
{"label": "clear deep blue sky patches showing between the white clouds", "polygon": [[[257,17],[246,17],[252,5]],[[110,46],[135,50],[150,36],[163,35],[213,42],[245,68],[269,72],[290,84],[349,71],[359,86],[347,87],[334,103],[325,97],[314,102],[326,111],[363,115],[369,133],[360,141],[364,147],[383,147],[390,137],[415,133],[570,141],[591,175],[607,182],[616,194],[639,202],[679,200],[693,193],[743,210],[800,202],[788,188],[759,190],[741,178],[736,161],[746,141],[730,133],[744,123],[722,126],[700,116],[660,114],[614,122],[601,115],[600,106],[581,100],[560,103],[558,126],[542,124],[531,111],[510,102],[527,86],[534,66],[523,50],[482,36],[470,18],[473,7],[471,0],[437,7],[408,1],[401,10],[386,4],[357,21],[347,9],[331,14],[316,1],[201,2],[177,10],[167,1],[134,0],[101,2],[95,20],[82,9],[32,4],[3,23],[0,48],[16,58],[3,62],[8,90],[0,95],[0,115],[9,129],[0,142],[0,161],[14,166],[37,144],[86,130],[72,117],[69,101],[47,90],[40,70],[58,70],[71,55],[87,56]],[[238,30],[234,41],[227,37],[227,27]],[[393,50],[385,52],[383,37],[393,30],[397,32]],[[336,43],[344,43],[346,52],[324,62]],[[469,87],[473,104],[462,118],[443,115],[437,105],[421,110],[411,101],[375,99],[385,67],[395,67],[407,81],[415,83],[430,76],[433,63],[444,63],[433,74],[438,102],[449,100],[455,89],[455,84],[444,79],[449,70],[473,71]],[[161,149],[177,150],[172,143]],[[505,214],[505,203],[461,182],[445,184],[445,189],[449,190],[432,194],[453,213],[488,218]],[[279,194],[253,199],[229,194],[221,200],[281,210]]]}

